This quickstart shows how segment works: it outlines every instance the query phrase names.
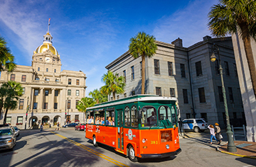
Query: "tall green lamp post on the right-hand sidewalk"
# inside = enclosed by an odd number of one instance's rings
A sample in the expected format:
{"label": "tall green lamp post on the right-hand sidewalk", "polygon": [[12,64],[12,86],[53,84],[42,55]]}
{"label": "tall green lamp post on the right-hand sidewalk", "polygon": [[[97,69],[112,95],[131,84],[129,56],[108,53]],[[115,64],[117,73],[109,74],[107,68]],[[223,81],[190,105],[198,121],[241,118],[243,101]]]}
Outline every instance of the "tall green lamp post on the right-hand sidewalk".
{"label": "tall green lamp post on the right-hand sidewalk", "polygon": [[224,87],[224,81],[223,81],[223,68],[221,67],[221,61],[220,61],[220,50],[217,45],[213,44],[211,47],[212,55],[210,56],[210,61],[215,62],[216,56],[215,53],[218,54],[218,65],[219,65],[219,71],[220,71],[220,79],[221,79],[221,86],[223,91],[223,101],[224,101],[224,108],[225,108],[225,116],[227,120],[227,136],[228,136],[228,151],[230,152],[236,152],[236,146],[234,144],[233,140],[233,132],[231,131],[230,127],[230,119],[228,115],[228,105],[227,105],[227,98],[225,96],[225,87]]}

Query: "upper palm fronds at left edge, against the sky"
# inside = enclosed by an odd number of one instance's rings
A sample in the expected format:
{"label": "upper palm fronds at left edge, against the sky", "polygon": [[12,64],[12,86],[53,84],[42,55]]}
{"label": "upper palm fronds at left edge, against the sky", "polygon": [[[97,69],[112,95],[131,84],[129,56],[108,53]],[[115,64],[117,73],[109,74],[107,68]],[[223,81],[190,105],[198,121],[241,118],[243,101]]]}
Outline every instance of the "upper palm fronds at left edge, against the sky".
{"label": "upper palm fronds at left edge, against the sky", "polygon": [[14,63],[14,55],[11,54],[11,50],[6,46],[6,41],[0,35],[0,71],[7,69],[7,71],[13,71],[16,67]]}

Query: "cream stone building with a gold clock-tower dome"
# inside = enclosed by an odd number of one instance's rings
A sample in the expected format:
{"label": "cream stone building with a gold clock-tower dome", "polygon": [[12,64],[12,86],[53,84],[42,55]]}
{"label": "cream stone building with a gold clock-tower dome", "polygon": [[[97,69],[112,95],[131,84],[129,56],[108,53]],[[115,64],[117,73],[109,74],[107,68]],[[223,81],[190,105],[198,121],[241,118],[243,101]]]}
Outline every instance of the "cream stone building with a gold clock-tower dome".
{"label": "cream stone building with a gold clock-tower dome", "polygon": [[[18,108],[8,111],[6,123],[23,129],[44,122],[64,125],[67,121],[84,121],[76,105],[85,97],[86,76],[82,71],[61,71],[60,54],[52,39],[49,32],[43,35],[43,44],[33,52],[31,67],[17,65],[11,73],[1,71],[1,83],[17,81],[23,87]],[[3,120],[1,115],[0,123]]]}

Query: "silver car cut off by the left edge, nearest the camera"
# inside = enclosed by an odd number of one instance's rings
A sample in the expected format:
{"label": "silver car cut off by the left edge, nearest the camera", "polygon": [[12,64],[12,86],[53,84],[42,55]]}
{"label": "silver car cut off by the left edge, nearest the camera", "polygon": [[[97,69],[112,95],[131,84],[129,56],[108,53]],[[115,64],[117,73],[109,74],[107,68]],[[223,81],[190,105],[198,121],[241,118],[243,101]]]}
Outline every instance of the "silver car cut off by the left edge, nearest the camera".
{"label": "silver car cut off by the left edge, nearest the camera", "polygon": [[0,127],[0,149],[13,149],[16,145],[14,127]]}

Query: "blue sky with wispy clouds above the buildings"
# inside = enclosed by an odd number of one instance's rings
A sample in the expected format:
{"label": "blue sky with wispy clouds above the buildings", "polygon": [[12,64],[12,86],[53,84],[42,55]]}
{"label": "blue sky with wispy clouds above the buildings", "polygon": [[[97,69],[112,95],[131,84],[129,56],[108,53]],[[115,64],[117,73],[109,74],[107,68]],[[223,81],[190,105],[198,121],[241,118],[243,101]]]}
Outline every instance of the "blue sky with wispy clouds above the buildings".
{"label": "blue sky with wispy clouds above the buildings", "polygon": [[1,0],[0,34],[15,62],[31,66],[50,20],[53,46],[62,70],[83,71],[86,95],[103,86],[105,66],[124,52],[129,39],[144,31],[156,40],[183,40],[188,47],[210,35],[207,14],[217,0],[89,1]]}

